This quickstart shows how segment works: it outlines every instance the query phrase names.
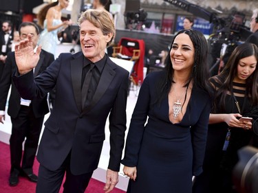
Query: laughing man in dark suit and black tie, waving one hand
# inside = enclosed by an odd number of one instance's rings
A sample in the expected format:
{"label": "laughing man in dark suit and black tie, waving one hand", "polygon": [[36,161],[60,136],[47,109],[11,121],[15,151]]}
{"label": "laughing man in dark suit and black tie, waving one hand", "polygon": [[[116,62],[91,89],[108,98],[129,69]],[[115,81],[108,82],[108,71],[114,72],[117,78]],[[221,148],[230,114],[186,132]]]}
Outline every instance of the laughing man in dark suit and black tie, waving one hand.
{"label": "laughing man in dark suit and black tie, waving one hand", "polygon": [[13,80],[23,98],[42,98],[56,89],[54,108],[45,122],[37,154],[38,193],[58,192],[64,175],[64,192],[85,192],[98,167],[108,115],[110,157],[105,192],[118,183],[129,72],[105,54],[116,32],[106,11],[88,9],[78,23],[82,52],[60,54],[34,81],[32,68],[39,58],[40,47],[33,54],[29,36],[15,49],[18,71]]}

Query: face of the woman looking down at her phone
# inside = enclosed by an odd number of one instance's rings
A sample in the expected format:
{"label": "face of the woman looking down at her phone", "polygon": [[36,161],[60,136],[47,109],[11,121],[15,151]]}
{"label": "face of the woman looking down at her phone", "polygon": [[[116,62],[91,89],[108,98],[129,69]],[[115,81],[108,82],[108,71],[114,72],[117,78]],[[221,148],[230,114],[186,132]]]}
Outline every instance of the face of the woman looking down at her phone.
{"label": "face of the woman looking down at her phone", "polygon": [[246,82],[246,79],[255,71],[256,65],[257,59],[255,56],[241,58],[237,65],[237,75],[235,76],[234,81],[241,83]]}

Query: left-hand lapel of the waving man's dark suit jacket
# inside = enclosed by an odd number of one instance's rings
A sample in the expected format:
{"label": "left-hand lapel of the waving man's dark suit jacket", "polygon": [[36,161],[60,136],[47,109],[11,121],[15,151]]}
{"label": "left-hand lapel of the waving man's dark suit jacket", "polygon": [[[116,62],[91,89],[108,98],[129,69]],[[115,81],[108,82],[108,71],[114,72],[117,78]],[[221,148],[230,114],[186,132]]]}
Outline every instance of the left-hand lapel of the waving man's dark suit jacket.
{"label": "left-hand lapel of the waving man's dark suit jacket", "polygon": [[72,87],[74,89],[74,98],[79,111],[81,111],[81,76],[83,72],[83,54],[71,61]]}

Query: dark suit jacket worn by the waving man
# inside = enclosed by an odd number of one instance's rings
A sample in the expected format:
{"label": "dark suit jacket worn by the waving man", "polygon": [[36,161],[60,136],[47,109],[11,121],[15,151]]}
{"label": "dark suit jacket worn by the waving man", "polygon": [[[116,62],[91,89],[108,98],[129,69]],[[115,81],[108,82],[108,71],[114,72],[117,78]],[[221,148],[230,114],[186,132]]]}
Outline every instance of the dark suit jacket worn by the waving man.
{"label": "dark suit jacket worn by the waving man", "polygon": [[73,174],[92,172],[98,167],[109,115],[108,168],[119,171],[125,142],[129,72],[107,58],[93,100],[82,110],[83,57],[82,52],[61,54],[34,81],[31,72],[13,77],[23,98],[42,98],[56,87],[56,102],[45,122],[37,158],[49,170],[57,170],[71,152]]}

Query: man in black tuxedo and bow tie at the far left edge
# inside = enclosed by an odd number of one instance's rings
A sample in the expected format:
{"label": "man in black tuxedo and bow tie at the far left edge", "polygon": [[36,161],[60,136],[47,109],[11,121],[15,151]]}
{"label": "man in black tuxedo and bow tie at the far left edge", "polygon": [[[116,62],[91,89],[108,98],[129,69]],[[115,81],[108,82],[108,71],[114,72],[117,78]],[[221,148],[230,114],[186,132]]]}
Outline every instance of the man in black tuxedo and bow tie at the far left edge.
{"label": "man in black tuxedo and bow tie at the far left edge", "polygon": [[6,63],[6,57],[12,49],[13,31],[10,21],[3,21],[2,30],[0,32],[0,79],[3,68]]}

